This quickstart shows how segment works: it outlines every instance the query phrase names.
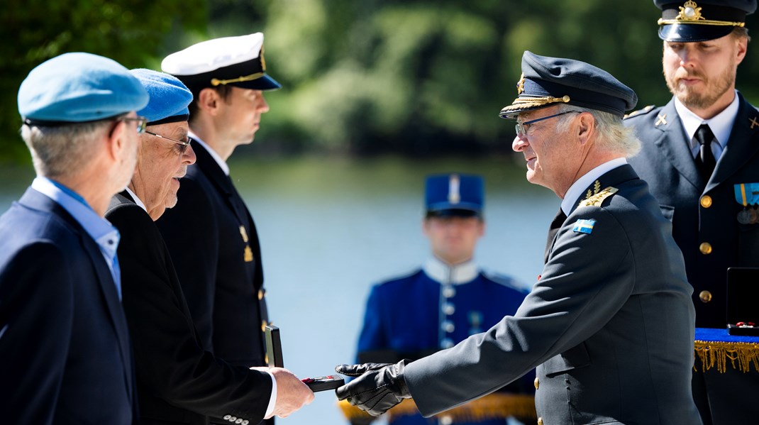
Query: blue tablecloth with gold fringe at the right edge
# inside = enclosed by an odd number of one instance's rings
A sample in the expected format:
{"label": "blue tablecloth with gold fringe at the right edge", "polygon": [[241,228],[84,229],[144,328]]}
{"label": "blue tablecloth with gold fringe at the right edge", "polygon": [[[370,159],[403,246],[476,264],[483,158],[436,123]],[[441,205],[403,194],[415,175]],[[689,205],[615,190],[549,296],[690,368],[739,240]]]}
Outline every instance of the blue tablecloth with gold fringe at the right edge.
{"label": "blue tablecloth with gold fringe at the right edge", "polygon": [[696,370],[716,367],[724,372],[730,360],[733,369],[759,372],[759,336],[729,335],[724,328],[696,328],[694,350]]}

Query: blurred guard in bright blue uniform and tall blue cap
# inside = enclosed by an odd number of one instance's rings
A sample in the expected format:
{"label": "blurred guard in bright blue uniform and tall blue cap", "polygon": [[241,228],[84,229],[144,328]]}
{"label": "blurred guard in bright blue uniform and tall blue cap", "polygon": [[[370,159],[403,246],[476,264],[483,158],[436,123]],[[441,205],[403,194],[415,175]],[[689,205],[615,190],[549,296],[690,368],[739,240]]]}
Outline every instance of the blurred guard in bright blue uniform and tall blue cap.
{"label": "blurred guard in bright blue uniform and tall blue cap", "polygon": [[[478,175],[427,177],[422,228],[432,256],[411,274],[371,289],[358,340],[360,362],[387,361],[389,355],[398,357],[395,361],[418,358],[451,348],[516,312],[527,291],[509,276],[484,272],[474,262],[485,231],[483,204],[484,181]],[[534,418],[533,379],[430,420],[413,408],[395,409],[389,423],[502,425],[515,414]]]}

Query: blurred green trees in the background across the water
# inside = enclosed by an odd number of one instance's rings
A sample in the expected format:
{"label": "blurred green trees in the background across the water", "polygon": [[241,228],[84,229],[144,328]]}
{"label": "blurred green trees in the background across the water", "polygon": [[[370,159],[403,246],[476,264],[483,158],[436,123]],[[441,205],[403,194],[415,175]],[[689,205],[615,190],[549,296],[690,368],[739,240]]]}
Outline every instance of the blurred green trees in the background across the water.
{"label": "blurred green trees in the background across the water", "polygon": [[[27,161],[16,93],[47,58],[86,51],[158,69],[193,42],[256,31],[284,88],[267,94],[243,155],[504,153],[513,125],[497,113],[516,96],[524,50],[606,69],[638,107],[667,102],[658,17],[652,2],[605,0],[6,0],[0,160]],[[738,87],[757,99],[751,46]]]}

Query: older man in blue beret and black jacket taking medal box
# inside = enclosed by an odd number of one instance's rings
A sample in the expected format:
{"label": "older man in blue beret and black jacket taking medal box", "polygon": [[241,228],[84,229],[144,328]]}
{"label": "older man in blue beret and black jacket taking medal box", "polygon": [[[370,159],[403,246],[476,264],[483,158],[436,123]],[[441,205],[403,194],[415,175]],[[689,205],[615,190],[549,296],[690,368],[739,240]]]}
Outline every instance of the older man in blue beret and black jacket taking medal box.
{"label": "older man in blue beret and black jacket taking medal box", "polygon": [[154,223],[176,205],[179,179],[195,162],[187,137],[187,105],[193,96],[169,74],[131,72],[150,93],[150,102],[139,111],[148,122],[134,177],[113,197],[106,218],[122,235],[118,257],[134,342],[140,421],[195,424],[219,417],[247,425],[275,414],[287,416],[313,398],[300,379],[282,368],[229,364],[208,351],[193,324]]}

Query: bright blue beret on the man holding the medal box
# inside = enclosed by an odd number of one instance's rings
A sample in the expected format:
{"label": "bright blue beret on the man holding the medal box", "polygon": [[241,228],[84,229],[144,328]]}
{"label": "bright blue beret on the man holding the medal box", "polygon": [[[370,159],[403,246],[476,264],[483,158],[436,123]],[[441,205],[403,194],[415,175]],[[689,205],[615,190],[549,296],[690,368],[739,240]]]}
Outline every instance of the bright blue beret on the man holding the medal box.
{"label": "bright blue beret on the man holding the medal box", "polygon": [[187,121],[190,118],[187,105],[192,102],[192,93],[180,80],[150,69],[139,68],[129,72],[140,80],[150,94],[147,106],[137,111],[137,115],[147,118],[148,125]]}

